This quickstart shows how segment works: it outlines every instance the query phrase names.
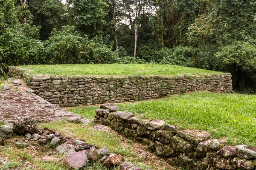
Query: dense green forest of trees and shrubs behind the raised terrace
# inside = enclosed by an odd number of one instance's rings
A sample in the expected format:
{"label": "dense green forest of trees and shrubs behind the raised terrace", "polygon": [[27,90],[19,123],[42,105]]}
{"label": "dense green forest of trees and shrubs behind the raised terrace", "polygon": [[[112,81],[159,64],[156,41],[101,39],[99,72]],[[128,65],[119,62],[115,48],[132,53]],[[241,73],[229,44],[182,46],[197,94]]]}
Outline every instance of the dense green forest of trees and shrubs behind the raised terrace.
{"label": "dense green forest of trees and shrubs behind the raised terrace", "polygon": [[256,89],[254,0],[0,0],[8,65],[159,63],[228,71]]}

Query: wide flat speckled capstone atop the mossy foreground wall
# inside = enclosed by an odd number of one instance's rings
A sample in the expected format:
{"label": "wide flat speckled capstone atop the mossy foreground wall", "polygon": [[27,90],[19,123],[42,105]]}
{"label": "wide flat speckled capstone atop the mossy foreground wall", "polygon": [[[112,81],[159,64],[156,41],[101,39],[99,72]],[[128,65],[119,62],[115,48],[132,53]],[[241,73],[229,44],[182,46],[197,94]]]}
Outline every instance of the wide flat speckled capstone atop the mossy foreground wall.
{"label": "wide flat speckled capstone atop the mossy foreground wall", "polygon": [[204,130],[180,130],[177,134],[193,144],[199,144],[200,142],[206,141],[211,136],[209,132]]}

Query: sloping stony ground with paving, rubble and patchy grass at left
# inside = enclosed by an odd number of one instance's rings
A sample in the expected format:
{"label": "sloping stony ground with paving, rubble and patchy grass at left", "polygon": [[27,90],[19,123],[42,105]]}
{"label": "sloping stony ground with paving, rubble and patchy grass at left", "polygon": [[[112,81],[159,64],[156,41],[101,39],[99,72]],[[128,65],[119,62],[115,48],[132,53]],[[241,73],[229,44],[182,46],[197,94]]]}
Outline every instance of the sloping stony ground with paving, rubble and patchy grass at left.
{"label": "sloping stony ground with paving, rubble and patchy grass at left", "polygon": [[141,144],[32,94],[21,80],[1,89],[1,170],[174,169]]}

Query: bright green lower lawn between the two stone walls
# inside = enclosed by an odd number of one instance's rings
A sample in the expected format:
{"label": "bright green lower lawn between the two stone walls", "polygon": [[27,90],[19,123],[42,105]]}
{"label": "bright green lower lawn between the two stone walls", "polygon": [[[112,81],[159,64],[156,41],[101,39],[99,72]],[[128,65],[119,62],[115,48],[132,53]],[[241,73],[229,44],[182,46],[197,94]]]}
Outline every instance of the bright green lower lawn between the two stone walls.
{"label": "bright green lower lawn between the two stone walls", "polygon": [[[162,119],[182,129],[207,130],[212,139],[224,137],[229,144],[256,146],[256,95],[203,92],[120,106],[142,119]],[[96,108],[70,111],[93,119]]]}

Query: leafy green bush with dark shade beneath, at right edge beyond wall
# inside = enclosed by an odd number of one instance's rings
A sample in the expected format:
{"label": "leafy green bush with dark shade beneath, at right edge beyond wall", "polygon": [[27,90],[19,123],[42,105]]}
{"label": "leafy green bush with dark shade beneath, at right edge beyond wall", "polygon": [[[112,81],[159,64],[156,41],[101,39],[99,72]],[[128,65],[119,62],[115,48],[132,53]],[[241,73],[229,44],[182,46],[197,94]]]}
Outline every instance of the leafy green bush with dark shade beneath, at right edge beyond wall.
{"label": "leafy green bush with dark shade beneath, at right edge beyond wall", "polygon": [[215,57],[221,61],[223,71],[233,75],[233,87],[256,89],[256,48],[247,42],[234,42],[219,48]]}

